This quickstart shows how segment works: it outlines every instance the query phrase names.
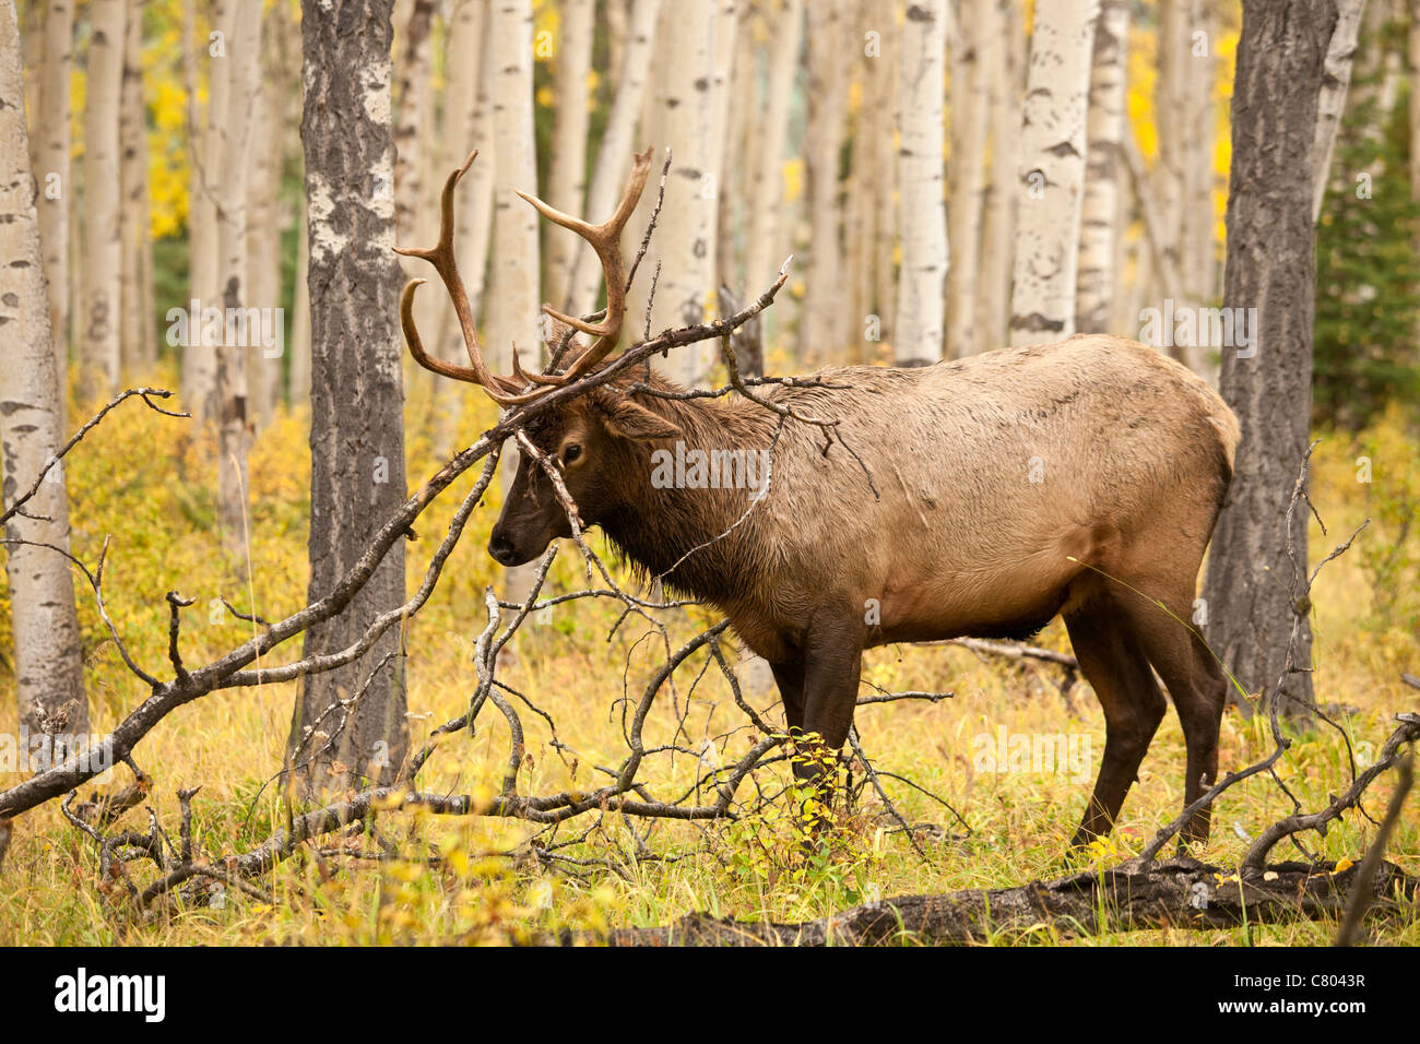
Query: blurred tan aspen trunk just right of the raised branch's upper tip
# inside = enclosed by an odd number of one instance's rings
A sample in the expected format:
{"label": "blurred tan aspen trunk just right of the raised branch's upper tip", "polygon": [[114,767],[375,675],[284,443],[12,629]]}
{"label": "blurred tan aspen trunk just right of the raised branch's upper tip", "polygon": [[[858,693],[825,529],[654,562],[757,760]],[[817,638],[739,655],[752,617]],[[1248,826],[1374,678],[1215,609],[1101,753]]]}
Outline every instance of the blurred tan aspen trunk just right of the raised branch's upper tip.
{"label": "blurred tan aspen trunk just right of the raised branch's upper tip", "polygon": [[799,322],[798,362],[816,369],[841,362],[845,345],[838,344],[838,304],[843,295],[839,239],[838,155],[848,101],[849,54],[845,43],[846,4],[825,0],[814,6],[808,34],[808,138],[804,156],[808,173],[809,249],[804,277],[804,318]]}

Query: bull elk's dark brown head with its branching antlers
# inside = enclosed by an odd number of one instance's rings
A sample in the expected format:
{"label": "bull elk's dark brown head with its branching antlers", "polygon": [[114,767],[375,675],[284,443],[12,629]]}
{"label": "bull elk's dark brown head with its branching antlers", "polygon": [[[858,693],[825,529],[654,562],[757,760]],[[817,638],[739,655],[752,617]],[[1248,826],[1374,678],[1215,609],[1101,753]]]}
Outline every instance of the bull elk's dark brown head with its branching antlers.
{"label": "bull elk's dark brown head with its branching antlers", "polygon": [[[555,311],[544,304],[542,311],[572,331],[594,338],[582,347],[571,341],[572,355],[558,372],[527,374],[518,364],[517,349],[513,352],[513,375],[493,374],[483,359],[479,347],[479,332],[474,327],[473,308],[459,276],[453,251],[453,197],[459,180],[467,173],[479,152],[474,149],[463,166],[449,175],[440,200],[439,241],[429,250],[405,249],[398,253],[408,257],[422,257],[433,264],[453,301],[459,325],[463,331],[464,348],[469,352],[469,366],[446,362],[430,357],[415,328],[415,291],[423,280],[410,280],[399,301],[399,318],[415,361],[442,376],[476,384],[496,403],[504,408],[520,406],[547,395],[558,386],[592,374],[592,371],[616,348],[621,338],[622,320],[626,312],[626,276],[621,254],[621,234],[630,219],[650,170],[652,151],[635,156],[626,192],[616,212],[601,224],[591,224],[561,210],[555,210],[540,199],[520,192],[544,217],[569,229],[586,240],[601,260],[606,281],[606,308],[598,315],[575,318]],[[609,381],[591,391],[559,402],[537,418],[527,429],[527,443],[518,462],[518,472],[508,490],[503,514],[488,540],[488,554],[503,565],[521,565],[540,555],[547,545],[571,535],[567,509],[557,494],[552,470],[577,504],[584,524],[596,524],[609,511],[619,509],[621,500],[616,482],[619,473],[630,462],[635,443],[648,439],[673,436],[679,429],[673,422],[659,416],[638,403],[626,393],[629,378]],[[531,452],[527,452],[527,450]]]}

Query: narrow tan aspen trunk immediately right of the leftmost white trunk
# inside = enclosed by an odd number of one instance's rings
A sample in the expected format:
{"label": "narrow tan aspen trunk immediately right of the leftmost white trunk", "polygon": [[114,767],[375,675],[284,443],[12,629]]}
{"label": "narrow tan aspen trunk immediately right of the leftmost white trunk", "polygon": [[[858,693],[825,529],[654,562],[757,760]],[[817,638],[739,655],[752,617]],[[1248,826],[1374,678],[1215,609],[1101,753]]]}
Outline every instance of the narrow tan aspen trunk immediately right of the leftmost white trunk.
{"label": "narrow tan aspen trunk immediately right of the leftmost white trunk", "polygon": [[68,428],[70,372],[70,178],[72,149],[70,75],[74,68],[74,0],[50,0],[44,14],[44,64],[40,74],[40,119],[34,172],[40,183],[40,247],[48,281],[50,330],[60,378],[60,430]]}

